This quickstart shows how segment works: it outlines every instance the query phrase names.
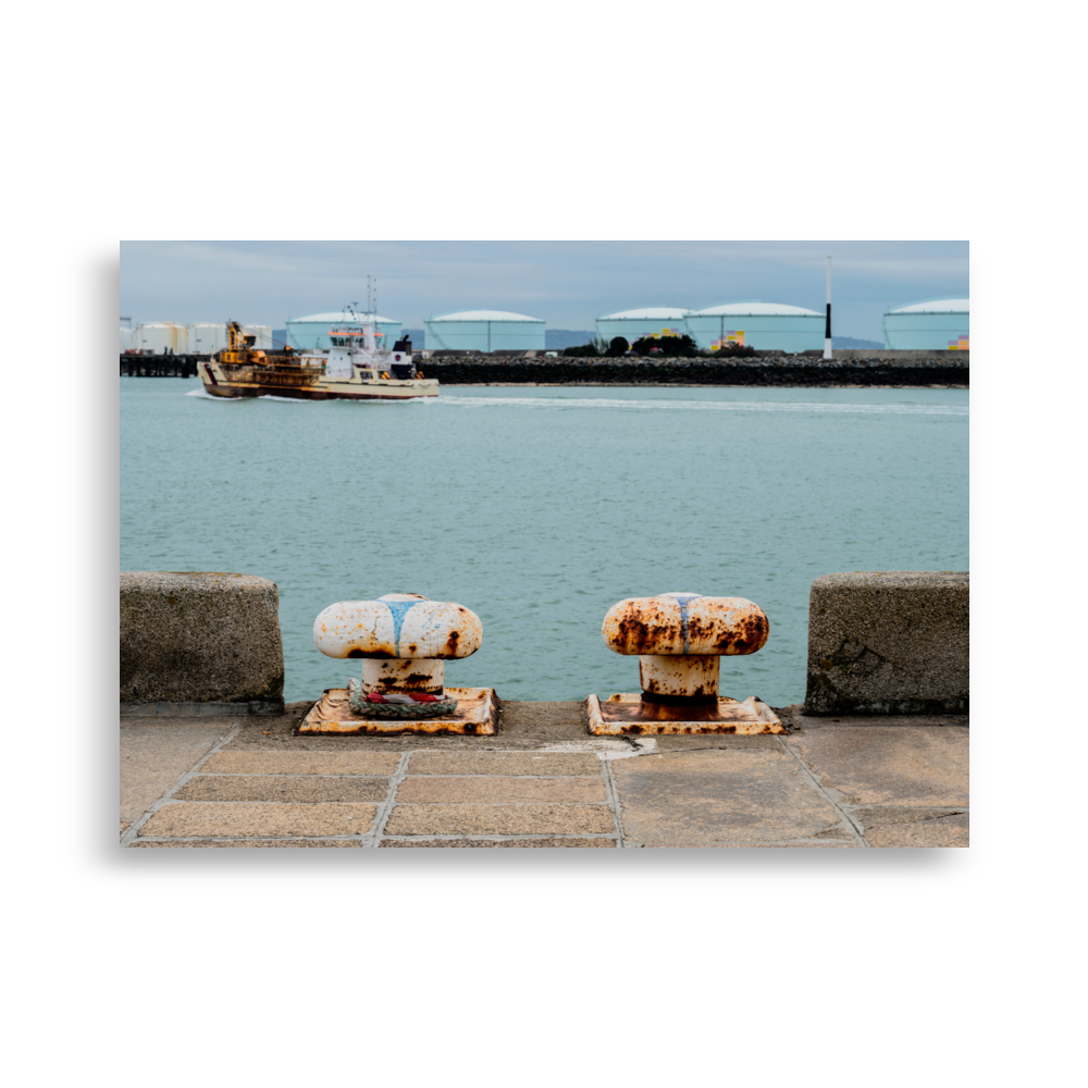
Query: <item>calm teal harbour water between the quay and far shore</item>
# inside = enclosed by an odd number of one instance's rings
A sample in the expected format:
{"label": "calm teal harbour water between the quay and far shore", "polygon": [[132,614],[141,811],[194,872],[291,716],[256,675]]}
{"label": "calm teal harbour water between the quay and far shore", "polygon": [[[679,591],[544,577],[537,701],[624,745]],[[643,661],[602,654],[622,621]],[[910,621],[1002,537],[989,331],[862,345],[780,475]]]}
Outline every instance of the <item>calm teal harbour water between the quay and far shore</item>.
{"label": "calm teal harbour water between the quay and far shore", "polygon": [[288,701],[356,667],[313,646],[335,601],[458,601],[483,648],[446,682],[504,698],[638,691],[601,641],[622,597],[739,595],[770,617],[721,690],[804,697],[808,586],[966,570],[966,390],[470,388],[436,403],[206,398],[121,379],[121,569],[280,586]]}

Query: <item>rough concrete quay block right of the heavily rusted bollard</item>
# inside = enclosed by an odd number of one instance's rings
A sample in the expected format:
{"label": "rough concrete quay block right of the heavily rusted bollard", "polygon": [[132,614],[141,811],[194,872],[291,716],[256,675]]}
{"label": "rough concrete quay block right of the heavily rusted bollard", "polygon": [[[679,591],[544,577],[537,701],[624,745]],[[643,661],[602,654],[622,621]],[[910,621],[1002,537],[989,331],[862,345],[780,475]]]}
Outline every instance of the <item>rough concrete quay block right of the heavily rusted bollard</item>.
{"label": "rough concrete quay block right of the heavily rusted bollard", "polygon": [[970,572],[813,582],[806,715],[970,713]]}

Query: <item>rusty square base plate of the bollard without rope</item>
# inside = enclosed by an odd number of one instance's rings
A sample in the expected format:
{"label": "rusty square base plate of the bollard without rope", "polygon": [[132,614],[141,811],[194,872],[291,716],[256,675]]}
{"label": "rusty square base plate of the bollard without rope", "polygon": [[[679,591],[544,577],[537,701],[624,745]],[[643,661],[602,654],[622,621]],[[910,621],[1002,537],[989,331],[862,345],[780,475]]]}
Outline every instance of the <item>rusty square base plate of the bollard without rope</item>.
{"label": "rusty square base plate of the bollard without rope", "polygon": [[767,704],[752,695],[743,703],[725,695],[706,706],[672,706],[644,703],[642,695],[590,695],[585,714],[591,733],[617,737],[626,733],[784,733],[786,727]]}

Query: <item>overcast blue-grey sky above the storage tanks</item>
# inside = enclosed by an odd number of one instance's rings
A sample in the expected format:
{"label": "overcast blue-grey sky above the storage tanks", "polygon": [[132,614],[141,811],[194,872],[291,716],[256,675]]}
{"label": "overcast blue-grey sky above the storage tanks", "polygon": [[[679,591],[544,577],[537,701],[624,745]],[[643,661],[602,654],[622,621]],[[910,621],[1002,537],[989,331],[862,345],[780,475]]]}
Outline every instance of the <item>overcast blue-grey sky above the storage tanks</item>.
{"label": "overcast blue-grey sky above the storage tanks", "polygon": [[889,306],[970,294],[969,242],[122,242],[121,314],[282,329],[288,317],[366,306],[421,329],[453,310],[514,310],[551,329],[594,327],[635,306],[759,299],[824,309],[834,332],[882,339]]}

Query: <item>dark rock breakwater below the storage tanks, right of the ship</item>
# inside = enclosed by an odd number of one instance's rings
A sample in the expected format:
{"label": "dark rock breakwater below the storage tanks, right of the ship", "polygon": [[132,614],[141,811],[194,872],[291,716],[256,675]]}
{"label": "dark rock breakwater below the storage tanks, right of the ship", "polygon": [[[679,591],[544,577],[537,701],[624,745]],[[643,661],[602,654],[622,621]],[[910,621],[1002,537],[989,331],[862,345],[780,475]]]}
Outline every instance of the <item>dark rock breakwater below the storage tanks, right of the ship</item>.
{"label": "dark rock breakwater below the storage tanks, right of the ship", "polygon": [[750,359],[494,358],[428,359],[428,378],[443,385],[767,385],[969,386],[967,353],[955,358],[857,358],[825,362],[812,356]]}

